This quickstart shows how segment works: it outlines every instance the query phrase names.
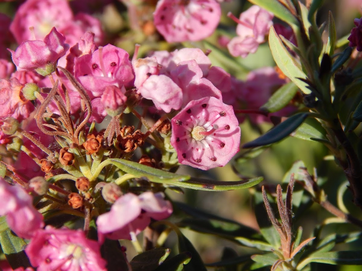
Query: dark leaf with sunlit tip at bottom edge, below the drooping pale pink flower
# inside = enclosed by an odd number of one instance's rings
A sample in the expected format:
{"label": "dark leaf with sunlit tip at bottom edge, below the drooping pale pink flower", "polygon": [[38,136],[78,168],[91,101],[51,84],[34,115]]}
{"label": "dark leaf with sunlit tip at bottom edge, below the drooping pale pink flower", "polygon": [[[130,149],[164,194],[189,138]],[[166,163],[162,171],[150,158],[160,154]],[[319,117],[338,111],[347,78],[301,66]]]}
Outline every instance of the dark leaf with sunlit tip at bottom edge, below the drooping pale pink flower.
{"label": "dark leaf with sunlit tip at bottom edge, below the drooping pale pink flower", "polygon": [[170,254],[171,249],[153,248],[136,255],[131,261],[132,271],[152,271],[160,266]]}

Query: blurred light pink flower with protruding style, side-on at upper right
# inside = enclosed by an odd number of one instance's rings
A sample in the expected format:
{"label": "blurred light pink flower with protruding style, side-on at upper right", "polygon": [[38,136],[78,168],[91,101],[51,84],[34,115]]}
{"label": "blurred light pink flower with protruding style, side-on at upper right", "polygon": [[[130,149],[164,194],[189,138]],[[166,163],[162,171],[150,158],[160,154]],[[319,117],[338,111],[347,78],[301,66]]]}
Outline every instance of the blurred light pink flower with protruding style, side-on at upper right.
{"label": "blurred light pink flower with protruding style, side-on at upper right", "polygon": [[246,57],[249,52],[256,52],[260,43],[265,42],[265,35],[273,25],[273,14],[265,9],[253,5],[240,14],[239,20],[231,13],[228,14],[235,22],[236,36],[228,43],[232,56]]}

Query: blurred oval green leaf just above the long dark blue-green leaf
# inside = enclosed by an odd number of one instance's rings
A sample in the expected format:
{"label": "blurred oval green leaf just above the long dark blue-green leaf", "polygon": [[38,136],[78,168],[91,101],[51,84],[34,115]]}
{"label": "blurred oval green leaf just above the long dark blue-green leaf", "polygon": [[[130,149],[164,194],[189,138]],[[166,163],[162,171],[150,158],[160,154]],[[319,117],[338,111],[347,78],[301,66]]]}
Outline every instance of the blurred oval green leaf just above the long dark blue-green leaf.
{"label": "blurred oval green leaf just above the long dark blue-green leaf", "polygon": [[260,110],[269,113],[279,111],[284,108],[291,99],[293,99],[298,89],[299,88],[293,82],[289,82],[281,86],[277,91],[275,91],[275,93],[273,93],[273,95],[271,95],[268,102],[260,107]]}

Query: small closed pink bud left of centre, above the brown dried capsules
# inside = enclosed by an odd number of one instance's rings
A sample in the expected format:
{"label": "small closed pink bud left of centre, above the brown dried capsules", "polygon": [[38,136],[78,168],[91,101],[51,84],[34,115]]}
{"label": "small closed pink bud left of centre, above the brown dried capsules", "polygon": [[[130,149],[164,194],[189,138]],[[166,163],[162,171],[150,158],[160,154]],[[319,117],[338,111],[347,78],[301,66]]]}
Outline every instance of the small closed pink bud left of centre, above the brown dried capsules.
{"label": "small closed pink bud left of centre, above the brown dried capsules", "polygon": [[101,103],[104,106],[108,115],[114,117],[122,113],[123,105],[126,103],[126,89],[122,86],[119,89],[116,86],[106,86],[101,96]]}

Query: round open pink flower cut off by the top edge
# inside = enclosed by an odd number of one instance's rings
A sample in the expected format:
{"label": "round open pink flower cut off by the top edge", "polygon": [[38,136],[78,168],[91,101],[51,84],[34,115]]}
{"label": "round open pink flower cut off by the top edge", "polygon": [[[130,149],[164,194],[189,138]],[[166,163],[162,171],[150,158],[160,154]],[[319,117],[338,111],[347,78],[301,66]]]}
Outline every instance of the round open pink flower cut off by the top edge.
{"label": "round open pink flower cut off by the top edge", "polygon": [[153,13],[155,26],[167,42],[202,40],[214,32],[220,16],[215,0],[160,0]]}

